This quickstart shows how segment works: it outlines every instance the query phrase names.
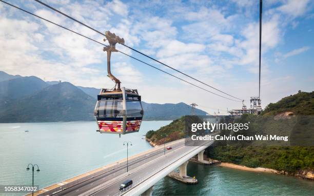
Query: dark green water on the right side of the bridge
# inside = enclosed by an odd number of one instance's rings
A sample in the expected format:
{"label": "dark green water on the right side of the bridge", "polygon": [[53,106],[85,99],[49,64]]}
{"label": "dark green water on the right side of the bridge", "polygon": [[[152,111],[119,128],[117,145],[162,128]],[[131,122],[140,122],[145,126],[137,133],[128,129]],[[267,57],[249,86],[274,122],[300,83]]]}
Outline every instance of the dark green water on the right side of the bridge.
{"label": "dark green water on the right side of the bridge", "polygon": [[314,181],[273,173],[258,173],[189,162],[187,174],[197,178],[186,185],[166,177],[152,195],[314,195]]}

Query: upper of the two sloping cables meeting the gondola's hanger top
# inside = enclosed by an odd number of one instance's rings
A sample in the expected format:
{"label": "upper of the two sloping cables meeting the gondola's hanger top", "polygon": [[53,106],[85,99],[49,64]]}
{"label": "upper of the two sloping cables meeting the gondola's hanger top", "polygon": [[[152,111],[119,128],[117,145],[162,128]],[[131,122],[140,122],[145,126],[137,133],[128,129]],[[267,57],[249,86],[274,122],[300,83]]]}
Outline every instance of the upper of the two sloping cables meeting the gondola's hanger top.
{"label": "upper of the two sloping cables meeting the gondola's hanger top", "polygon": [[[88,26],[88,25],[82,23],[81,21],[78,21],[77,19],[73,18],[72,16],[69,16],[68,14],[65,14],[64,12],[62,12],[62,11],[60,11],[60,10],[57,10],[57,9],[55,9],[55,8],[53,8],[53,7],[51,7],[51,6],[49,6],[48,4],[43,3],[42,1],[39,1],[39,0],[34,0],[34,1],[36,1],[36,2],[42,4],[42,5],[46,6],[46,7],[48,7],[48,8],[50,8],[50,9],[54,10],[55,12],[58,12],[58,13],[64,15],[64,16],[66,16],[66,17],[72,19],[73,21],[75,21],[75,22],[77,22],[77,23],[79,23],[79,24],[81,24],[81,25],[83,25],[83,26],[85,26],[85,27],[87,27],[87,28],[89,28],[89,29],[91,29],[91,30],[93,30],[93,31],[95,31],[95,32],[97,32],[97,33],[99,33],[99,34],[101,34],[101,35],[106,36],[104,33],[102,33],[102,32],[100,32],[100,31],[98,31],[98,30],[96,30],[96,29],[94,29],[94,28],[92,28],[92,27],[90,27],[90,26]],[[215,89],[215,90],[217,90],[217,91],[219,91],[219,92],[222,92],[222,93],[224,93],[224,94],[226,94],[226,95],[229,95],[229,96],[231,96],[231,97],[233,97],[233,98],[235,98],[235,99],[238,99],[238,100],[241,100],[241,101],[243,100],[243,99],[240,99],[240,98],[238,98],[238,97],[235,97],[235,96],[233,96],[233,95],[231,95],[231,94],[228,94],[228,93],[226,93],[226,92],[224,92],[224,91],[222,91],[222,90],[219,90],[218,88],[215,88],[215,87],[213,87],[213,86],[210,86],[210,85],[208,85],[208,84],[206,84],[206,83],[204,83],[204,82],[202,82],[202,81],[200,81],[200,80],[198,80],[198,79],[195,79],[194,77],[192,77],[192,76],[190,76],[190,75],[188,75],[188,74],[186,74],[186,73],[184,73],[184,72],[182,72],[182,71],[180,71],[180,70],[178,70],[178,69],[175,69],[175,68],[173,68],[173,67],[171,67],[171,66],[168,66],[168,65],[166,65],[165,63],[162,63],[162,62],[156,60],[155,58],[153,58],[153,57],[151,57],[151,56],[149,56],[149,55],[147,55],[147,54],[144,54],[143,52],[141,52],[141,51],[139,51],[139,50],[136,50],[136,49],[134,49],[134,48],[132,48],[132,47],[129,47],[129,46],[125,45],[125,44],[121,44],[121,45],[123,45],[123,46],[125,46],[125,47],[127,47],[127,48],[129,48],[129,49],[131,49],[131,50],[133,50],[133,51],[135,51],[135,52],[138,52],[139,54],[142,54],[142,55],[144,55],[144,56],[150,58],[151,60],[153,60],[153,61],[155,61],[155,62],[158,62],[158,63],[160,63],[160,64],[162,64],[162,65],[164,65],[164,66],[166,66],[166,67],[168,67],[168,68],[170,68],[170,69],[176,71],[176,72],[179,72],[179,73],[181,73],[181,74],[183,74],[183,75],[189,77],[189,78],[192,79],[192,80],[195,80],[195,81],[197,81],[197,82],[199,82],[199,83],[202,83],[202,84],[204,84],[204,85],[206,85],[206,86],[208,86],[208,87],[210,87],[210,88],[213,88],[213,89]]]}

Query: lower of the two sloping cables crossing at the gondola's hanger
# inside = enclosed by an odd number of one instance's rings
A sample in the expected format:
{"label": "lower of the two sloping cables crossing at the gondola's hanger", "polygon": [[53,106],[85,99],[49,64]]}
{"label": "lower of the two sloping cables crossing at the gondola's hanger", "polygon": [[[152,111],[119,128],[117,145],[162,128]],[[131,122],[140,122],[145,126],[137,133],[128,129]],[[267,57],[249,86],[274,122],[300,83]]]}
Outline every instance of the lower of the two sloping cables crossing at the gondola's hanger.
{"label": "lower of the two sloping cables crossing at the gondola's hanger", "polygon": [[[38,16],[38,15],[36,15],[36,14],[33,14],[33,13],[27,11],[27,10],[24,10],[24,9],[22,9],[22,8],[19,8],[19,7],[17,7],[17,6],[14,6],[14,5],[12,5],[12,4],[10,4],[10,3],[7,3],[7,2],[5,2],[5,1],[3,1],[3,0],[0,0],[0,2],[5,3],[5,4],[9,5],[9,6],[12,6],[12,7],[16,8],[16,9],[18,9],[18,10],[24,11],[24,12],[26,12],[26,13],[28,13],[28,14],[31,14],[31,15],[33,15],[33,16],[35,16],[35,17],[38,17],[38,18],[40,18],[40,19],[43,19],[43,20],[46,21],[46,22],[49,22],[49,23],[51,23],[51,24],[53,24],[53,25],[56,25],[56,26],[61,27],[61,28],[63,28],[63,29],[66,29],[66,30],[68,30],[68,31],[70,31],[70,32],[72,32],[72,33],[75,33],[75,34],[77,34],[77,35],[83,36],[83,37],[87,38],[88,40],[91,40],[91,41],[93,41],[93,42],[95,42],[95,43],[101,44],[101,45],[103,45],[103,46],[107,46],[106,44],[103,44],[103,43],[101,43],[101,42],[98,42],[98,41],[96,41],[96,40],[94,40],[94,39],[92,39],[92,38],[90,38],[90,37],[88,37],[88,36],[85,36],[85,35],[83,35],[83,34],[81,34],[81,33],[78,33],[78,32],[76,32],[76,31],[73,31],[73,30],[71,30],[71,29],[69,29],[69,28],[66,28],[66,27],[64,27],[64,26],[58,25],[58,24],[56,24],[56,23],[54,23],[54,22],[52,22],[52,21],[49,21],[49,20],[46,19],[46,18],[43,18],[43,17]],[[200,87],[200,86],[198,86],[198,85],[195,85],[195,84],[193,84],[193,83],[190,83],[190,82],[188,82],[188,81],[186,81],[186,80],[184,80],[184,79],[181,79],[181,78],[178,77],[178,76],[175,76],[175,75],[173,75],[173,74],[171,74],[171,73],[169,73],[169,72],[167,72],[167,71],[164,71],[164,70],[162,70],[162,69],[160,69],[160,68],[157,68],[157,67],[155,67],[155,66],[152,66],[152,65],[150,65],[150,64],[148,64],[148,63],[146,63],[146,62],[140,60],[139,58],[135,58],[135,57],[133,57],[133,56],[127,54],[127,53],[124,53],[124,52],[119,51],[119,50],[118,50],[118,52],[120,52],[120,53],[122,53],[122,54],[124,54],[124,55],[126,55],[126,56],[129,56],[129,57],[133,58],[133,59],[136,60],[136,61],[139,61],[139,62],[141,62],[141,63],[143,63],[143,64],[146,64],[146,65],[148,65],[148,66],[150,66],[150,67],[152,67],[152,68],[154,68],[154,69],[157,69],[157,70],[159,70],[159,71],[161,71],[161,72],[164,72],[164,73],[166,73],[166,74],[168,74],[168,75],[170,75],[170,76],[172,76],[172,77],[175,77],[176,79],[179,79],[179,80],[181,80],[181,81],[183,81],[183,82],[185,82],[185,83],[188,83],[188,84],[190,84],[190,85],[192,85],[192,86],[194,86],[194,87],[200,88],[200,89],[202,89],[202,90],[205,90],[205,91],[210,92],[210,93],[212,93],[212,94],[218,95],[218,96],[223,97],[223,98],[225,98],[225,99],[227,99],[227,100],[230,100],[230,101],[240,102],[240,101],[238,101],[238,100],[230,99],[230,98],[228,98],[228,97],[222,96],[222,95],[220,95],[220,94],[217,94],[217,93],[214,93],[214,92],[212,92],[212,91],[209,91],[209,90],[207,90],[207,89],[205,89],[205,88],[202,88],[202,87]]]}

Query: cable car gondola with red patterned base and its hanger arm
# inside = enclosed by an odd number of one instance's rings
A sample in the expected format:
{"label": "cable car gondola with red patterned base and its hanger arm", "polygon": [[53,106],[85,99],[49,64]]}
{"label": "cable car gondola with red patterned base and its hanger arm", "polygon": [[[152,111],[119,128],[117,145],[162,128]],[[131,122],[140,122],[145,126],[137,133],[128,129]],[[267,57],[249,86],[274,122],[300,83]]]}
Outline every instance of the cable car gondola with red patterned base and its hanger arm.
{"label": "cable car gondola with red patterned base and its hanger arm", "polygon": [[110,44],[110,46],[104,47],[104,51],[107,51],[108,77],[116,85],[113,89],[103,88],[97,96],[94,109],[99,128],[97,131],[101,133],[119,133],[119,135],[138,132],[144,114],[141,95],[136,89],[120,88],[121,82],[110,71],[111,52],[116,52],[115,44],[124,44],[124,39],[109,31],[106,31],[106,38]]}

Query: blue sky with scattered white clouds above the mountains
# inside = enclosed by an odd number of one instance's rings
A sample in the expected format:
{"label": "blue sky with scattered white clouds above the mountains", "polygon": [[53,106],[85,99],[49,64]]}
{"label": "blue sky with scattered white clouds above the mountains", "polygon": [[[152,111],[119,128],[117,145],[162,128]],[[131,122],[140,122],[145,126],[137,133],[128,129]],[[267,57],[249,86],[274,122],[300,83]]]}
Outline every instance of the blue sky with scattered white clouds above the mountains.
{"label": "blue sky with scattered white clouds above the mountains", "polygon": [[[80,32],[103,36],[34,1],[8,3]],[[43,0],[83,23],[123,37],[125,44],[250,105],[259,94],[259,1]],[[314,2],[264,0],[261,100],[264,108],[298,90],[313,91]],[[223,95],[130,49],[116,48]],[[197,103],[208,113],[233,102],[113,53],[112,73],[148,103]],[[0,2],[0,70],[45,81],[112,88],[103,46]],[[225,95],[228,96],[228,95]],[[230,97],[232,99],[232,97]]]}

